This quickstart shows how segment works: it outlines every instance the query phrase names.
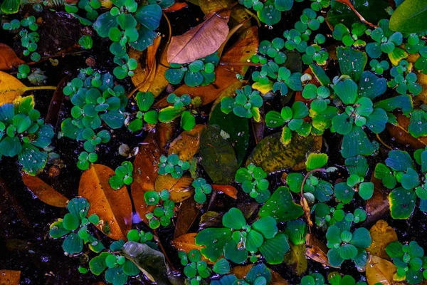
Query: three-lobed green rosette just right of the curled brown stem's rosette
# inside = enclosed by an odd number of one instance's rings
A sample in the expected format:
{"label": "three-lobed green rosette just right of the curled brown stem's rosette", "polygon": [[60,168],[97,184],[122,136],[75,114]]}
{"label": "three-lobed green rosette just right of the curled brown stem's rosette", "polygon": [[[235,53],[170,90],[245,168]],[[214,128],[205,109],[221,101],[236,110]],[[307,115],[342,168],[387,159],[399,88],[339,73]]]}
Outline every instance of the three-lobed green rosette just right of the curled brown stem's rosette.
{"label": "three-lobed green rosette just right of the curled brown stem's rosette", "polygon": [[339,202],[347,204],[352,201],[354,193],[359,193],[362,199],[367,200],[374,195],[374,183],[364,182],[369,165],[363,156],[350,157],[345,160],[349,177],[347,182],[340,182],[334,186],[335,197]]}

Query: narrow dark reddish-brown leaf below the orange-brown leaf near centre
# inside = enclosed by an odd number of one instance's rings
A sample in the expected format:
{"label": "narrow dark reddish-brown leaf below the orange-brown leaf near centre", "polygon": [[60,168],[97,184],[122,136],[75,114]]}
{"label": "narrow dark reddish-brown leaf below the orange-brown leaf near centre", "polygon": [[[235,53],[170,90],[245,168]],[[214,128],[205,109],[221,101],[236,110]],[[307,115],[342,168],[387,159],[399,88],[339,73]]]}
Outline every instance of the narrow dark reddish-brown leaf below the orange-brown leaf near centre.
{"label": "narrow dark reddish-brown leaf below the orange-brown leaf near centre", "polygon": [[176,218],[174,237],[180,237],[186,234],[196,220],[196,217],[199,216],[199,212],[200,208],[197,207],[194,198],[191,197],[182,202],[181,206],[179,206],[179,212]]}

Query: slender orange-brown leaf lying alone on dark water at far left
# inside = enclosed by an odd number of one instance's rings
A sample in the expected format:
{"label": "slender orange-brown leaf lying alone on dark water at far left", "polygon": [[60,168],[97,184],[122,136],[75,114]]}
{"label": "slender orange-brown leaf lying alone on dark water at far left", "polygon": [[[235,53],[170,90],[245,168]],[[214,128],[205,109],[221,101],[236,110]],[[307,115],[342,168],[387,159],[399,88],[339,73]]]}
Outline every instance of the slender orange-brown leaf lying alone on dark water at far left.
{"label": "slender orange-brown leaf lying alone on dark water at far left", "polygon": [[33,192],[38,199],[41,199],[41,201],[54,207],[67,207],[67,197],[64,197],[62,194],[54,190],[46,182],[36,176],[28,175],[26,172],[22,172],[21,176],[23,184],[25,184],[26,187],[28,187],[28,190]]}

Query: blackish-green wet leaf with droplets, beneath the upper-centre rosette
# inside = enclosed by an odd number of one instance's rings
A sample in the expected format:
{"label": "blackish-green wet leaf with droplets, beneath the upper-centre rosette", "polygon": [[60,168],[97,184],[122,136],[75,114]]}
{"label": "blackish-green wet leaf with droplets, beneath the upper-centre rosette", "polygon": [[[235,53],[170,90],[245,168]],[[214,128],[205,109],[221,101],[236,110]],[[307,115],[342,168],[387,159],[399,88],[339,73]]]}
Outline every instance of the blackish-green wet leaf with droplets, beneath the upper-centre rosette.
{"label": "blackish-green wet leaf with droplets, beneath the upper-centre rosette", "polygon": [[218,125],[221,132],[228,134],[227,140],[236,152],[237,165],[241,165],[249,146],[248,119],[238,117],[233,112],[223,113],[221,105],[218,104],[211,111],[209,125]]}

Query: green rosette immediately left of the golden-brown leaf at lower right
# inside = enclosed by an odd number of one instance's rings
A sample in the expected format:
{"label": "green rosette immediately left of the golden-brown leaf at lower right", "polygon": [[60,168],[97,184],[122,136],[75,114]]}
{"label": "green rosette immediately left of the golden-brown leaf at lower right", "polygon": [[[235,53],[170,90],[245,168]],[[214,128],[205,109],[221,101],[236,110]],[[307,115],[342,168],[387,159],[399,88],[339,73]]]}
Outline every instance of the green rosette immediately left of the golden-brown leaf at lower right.
{"label": "green rosette immediately left of the golden-brown leaf at lower right", "polygon": [[367,247],[371,245],[371,234],[364,227],[350,231],[351,222],[343,220],[330,226],[326,232],[328,261],[332,266],[341,266],[345,260],[352,260],[358,268],[367,263]]}

